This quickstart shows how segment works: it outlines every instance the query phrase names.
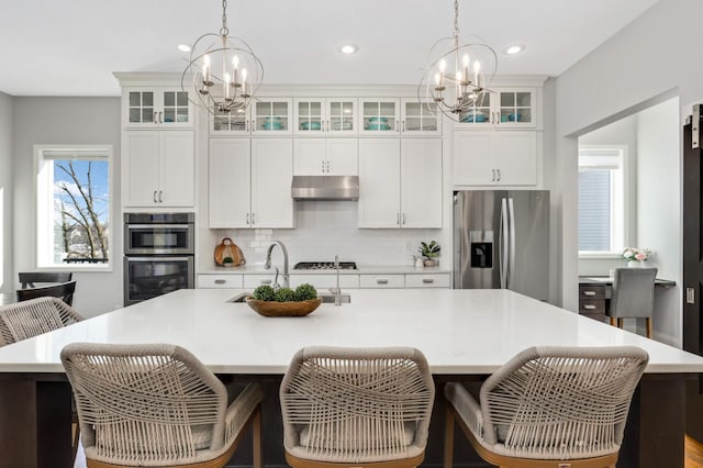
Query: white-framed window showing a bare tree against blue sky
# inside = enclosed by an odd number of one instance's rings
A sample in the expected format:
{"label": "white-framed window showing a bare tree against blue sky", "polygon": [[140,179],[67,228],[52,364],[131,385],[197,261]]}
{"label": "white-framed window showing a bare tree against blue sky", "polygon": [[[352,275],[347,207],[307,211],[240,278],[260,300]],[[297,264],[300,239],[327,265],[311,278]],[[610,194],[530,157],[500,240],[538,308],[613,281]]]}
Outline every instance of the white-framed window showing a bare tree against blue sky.
{"label": "white-framed window showing a bare tree against blue sky", "polygon": [[37,267],[109,269],[112,146],[35,153]]}

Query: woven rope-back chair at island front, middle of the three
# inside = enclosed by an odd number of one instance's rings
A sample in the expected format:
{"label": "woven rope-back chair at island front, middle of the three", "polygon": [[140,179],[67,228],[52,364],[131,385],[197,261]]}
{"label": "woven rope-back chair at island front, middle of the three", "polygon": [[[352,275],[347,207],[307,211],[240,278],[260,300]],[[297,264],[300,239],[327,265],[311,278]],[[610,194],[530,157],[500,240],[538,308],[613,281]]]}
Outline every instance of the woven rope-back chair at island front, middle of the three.
{"label": "woven rope-back chair at island front, middle of the three", "polygon": [[408,347],[308,347],[280,388],[291,467],[416,467],[425,456],[434,383]]}

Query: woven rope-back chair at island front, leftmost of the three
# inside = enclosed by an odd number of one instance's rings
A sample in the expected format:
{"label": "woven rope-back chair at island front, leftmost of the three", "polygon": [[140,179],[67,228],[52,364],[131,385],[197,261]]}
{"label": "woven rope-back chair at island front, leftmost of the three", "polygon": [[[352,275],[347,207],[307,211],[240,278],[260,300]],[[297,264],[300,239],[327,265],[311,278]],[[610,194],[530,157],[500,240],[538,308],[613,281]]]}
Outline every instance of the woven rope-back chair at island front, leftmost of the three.
{"label": "woven rope-back chair at island front, leftmost of the three", "polygon": [[225,386],[188,350],[166,344],[72,343],[62,363],[74,389],[88,468],[219,468],[249,426],[261,467],[261,390],[228,403]]}

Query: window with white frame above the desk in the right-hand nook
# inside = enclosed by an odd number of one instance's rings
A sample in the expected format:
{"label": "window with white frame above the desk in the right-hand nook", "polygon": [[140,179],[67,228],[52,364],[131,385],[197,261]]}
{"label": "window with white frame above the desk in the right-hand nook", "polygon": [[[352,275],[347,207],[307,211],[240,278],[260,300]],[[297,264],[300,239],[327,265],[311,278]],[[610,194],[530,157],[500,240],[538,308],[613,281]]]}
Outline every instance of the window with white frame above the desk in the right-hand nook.
{"label": "window with white frame above the desk in the right-hand nook", "polygon": [[620,255],[625,245],[625,147],[579,148],[579,255]]}

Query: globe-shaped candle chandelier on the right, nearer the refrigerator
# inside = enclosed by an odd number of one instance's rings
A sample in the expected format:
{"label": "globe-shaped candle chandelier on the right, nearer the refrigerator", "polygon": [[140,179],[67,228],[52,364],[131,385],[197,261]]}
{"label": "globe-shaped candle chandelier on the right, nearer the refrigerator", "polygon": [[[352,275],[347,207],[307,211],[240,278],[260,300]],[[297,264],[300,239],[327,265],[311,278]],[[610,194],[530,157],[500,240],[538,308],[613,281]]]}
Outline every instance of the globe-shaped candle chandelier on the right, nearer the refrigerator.
{"label": "globe-shaped candle chandelier on the right, nearer the refrigerator", "polygon": [[473,118],[488,94],[495,76],[495,51],[477,37],[477,42],[459,38],[459,2],[454,1],[454,33],[438,40],[429,51],[428,66],[417,86],[421,101],[435,102],[437,109],[455,122]]}

